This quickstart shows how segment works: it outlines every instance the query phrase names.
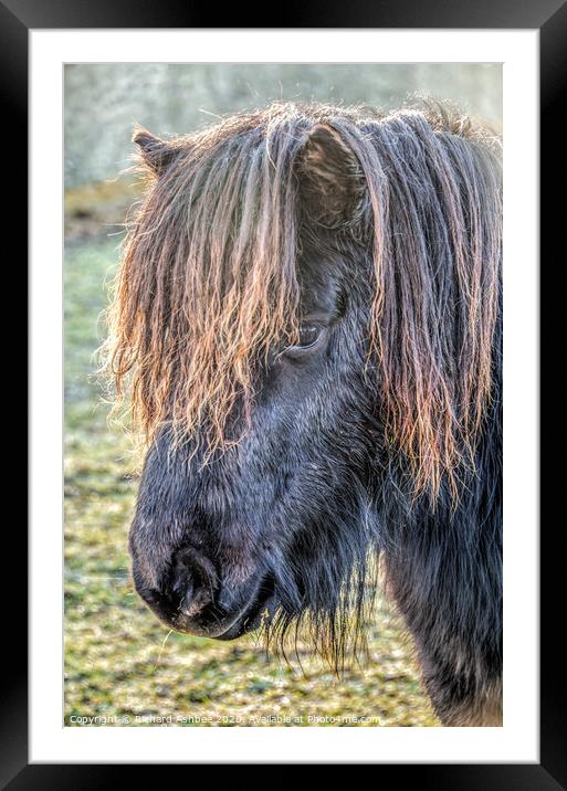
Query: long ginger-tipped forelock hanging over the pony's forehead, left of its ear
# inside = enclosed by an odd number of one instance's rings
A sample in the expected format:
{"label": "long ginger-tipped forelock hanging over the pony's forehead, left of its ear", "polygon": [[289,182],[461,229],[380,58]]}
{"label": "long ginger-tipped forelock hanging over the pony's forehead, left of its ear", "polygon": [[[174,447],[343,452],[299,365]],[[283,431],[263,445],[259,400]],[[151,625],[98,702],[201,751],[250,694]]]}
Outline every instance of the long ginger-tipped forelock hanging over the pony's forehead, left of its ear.
{"label": "long ginger-tipped forelock hanging over the pony's forehead, left of its ear", "polygon": [[187,138],[151,186],[124,250],[111,352],[148,441],[169,423],[179,439],[206,425],[209,450],[224,443],[254,362],[296,336],[301,144],[285,117],[229,119]]}

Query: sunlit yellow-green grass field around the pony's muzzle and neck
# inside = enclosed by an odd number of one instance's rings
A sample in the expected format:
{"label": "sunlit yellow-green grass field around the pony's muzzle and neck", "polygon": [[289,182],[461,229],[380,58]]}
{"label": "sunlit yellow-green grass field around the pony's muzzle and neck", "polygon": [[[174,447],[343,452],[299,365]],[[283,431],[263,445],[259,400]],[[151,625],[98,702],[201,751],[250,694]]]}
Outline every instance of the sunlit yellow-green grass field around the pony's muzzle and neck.
{"label": "sunlit yellow-green grass field around the pony's muzzle and neck", "polygon": [[288,666],[253,636],[168,635],[138,600],[126,549],[136,462],[93,377],[116,239],[65,256],[65,725],[438,725],[382,600],[368,665],[340,679],[307,654],[303,671]]}

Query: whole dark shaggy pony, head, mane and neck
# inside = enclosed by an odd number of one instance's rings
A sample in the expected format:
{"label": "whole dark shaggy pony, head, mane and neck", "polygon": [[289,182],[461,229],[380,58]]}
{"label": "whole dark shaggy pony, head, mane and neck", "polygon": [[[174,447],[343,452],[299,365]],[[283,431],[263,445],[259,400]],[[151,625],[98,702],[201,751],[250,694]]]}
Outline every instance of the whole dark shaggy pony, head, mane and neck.
{"label": "whole dark shaggy pony, head, mane and neck", "polygon": [[169,627],[358,655],[382,584],[443,725],[502,721],[502,176],[452,106],[133,137],[107,369]]}

